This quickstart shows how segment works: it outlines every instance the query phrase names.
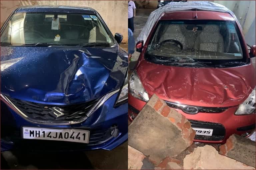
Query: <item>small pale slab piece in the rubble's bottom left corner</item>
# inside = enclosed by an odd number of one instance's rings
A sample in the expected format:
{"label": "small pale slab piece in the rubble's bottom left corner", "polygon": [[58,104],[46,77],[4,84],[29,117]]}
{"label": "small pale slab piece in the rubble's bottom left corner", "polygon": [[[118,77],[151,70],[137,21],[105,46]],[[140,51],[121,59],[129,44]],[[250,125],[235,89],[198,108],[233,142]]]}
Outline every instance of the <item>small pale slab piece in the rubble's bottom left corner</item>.
{"label": "small pale slab piece in the rubble's bottom left corner", "polygon": [[141,169],[145,157],[143,153],[128,145],[128,169]]}

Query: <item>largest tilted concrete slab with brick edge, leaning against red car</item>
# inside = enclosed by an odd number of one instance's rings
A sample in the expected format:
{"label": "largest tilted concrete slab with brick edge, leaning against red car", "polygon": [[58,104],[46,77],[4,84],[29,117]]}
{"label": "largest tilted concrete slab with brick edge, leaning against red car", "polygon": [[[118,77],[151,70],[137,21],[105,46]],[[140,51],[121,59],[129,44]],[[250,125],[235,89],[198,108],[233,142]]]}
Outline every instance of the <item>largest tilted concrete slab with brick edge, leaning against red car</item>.
{"label": "largest tilted concrete slab with brick edge, leaning against red car", "polygon": [[155,94],[128,127],[128,144],[149,156],[155,165],[193,143],[195,131],[185,116]]}

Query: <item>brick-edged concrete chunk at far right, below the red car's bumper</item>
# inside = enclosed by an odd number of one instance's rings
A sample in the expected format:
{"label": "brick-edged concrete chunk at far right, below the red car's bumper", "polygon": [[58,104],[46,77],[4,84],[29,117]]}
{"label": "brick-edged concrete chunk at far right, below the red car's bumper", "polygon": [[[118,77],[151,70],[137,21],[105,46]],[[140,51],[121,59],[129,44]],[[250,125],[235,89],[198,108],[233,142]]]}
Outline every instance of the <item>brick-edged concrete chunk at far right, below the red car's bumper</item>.
{"label": "brick-edged concrete chunk at far right, below the red car's bumper", "polygon": [[255,167],[255,142],[248,138],[231,135],[227,142],[220,146],[219,153]]}

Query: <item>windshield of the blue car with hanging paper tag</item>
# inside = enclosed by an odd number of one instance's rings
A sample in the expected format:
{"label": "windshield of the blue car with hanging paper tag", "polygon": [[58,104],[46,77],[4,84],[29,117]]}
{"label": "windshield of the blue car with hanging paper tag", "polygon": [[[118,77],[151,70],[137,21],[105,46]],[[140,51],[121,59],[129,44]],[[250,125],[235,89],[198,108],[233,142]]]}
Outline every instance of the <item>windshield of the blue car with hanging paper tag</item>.
{"label": "windshield of the blue car with hanging paper tag", "polygon": [[102,43],[112,46],[113,39],[96,15],[57,13],[16,13],[1,35],[1,46],[45,43],[81,45]]}

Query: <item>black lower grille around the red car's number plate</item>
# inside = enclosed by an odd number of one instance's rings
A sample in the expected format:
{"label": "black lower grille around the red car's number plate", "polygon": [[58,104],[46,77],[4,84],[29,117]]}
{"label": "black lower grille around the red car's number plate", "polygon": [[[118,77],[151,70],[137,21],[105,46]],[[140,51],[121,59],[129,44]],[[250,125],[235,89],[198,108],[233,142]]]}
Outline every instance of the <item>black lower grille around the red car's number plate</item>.
{"label": "black lower grille around the red car's number plate", "polygon": [[221,124],[213,123],[213,122],[195,121],[195,120],[188,120],[188,121],[191,123],[191,127],[193,128],[213,129],[211,136],[196,135],[195,139],[218,141],[218,140],[223,140],[226,135],[226,129]]}

